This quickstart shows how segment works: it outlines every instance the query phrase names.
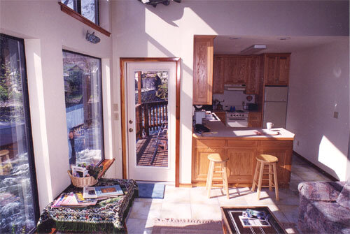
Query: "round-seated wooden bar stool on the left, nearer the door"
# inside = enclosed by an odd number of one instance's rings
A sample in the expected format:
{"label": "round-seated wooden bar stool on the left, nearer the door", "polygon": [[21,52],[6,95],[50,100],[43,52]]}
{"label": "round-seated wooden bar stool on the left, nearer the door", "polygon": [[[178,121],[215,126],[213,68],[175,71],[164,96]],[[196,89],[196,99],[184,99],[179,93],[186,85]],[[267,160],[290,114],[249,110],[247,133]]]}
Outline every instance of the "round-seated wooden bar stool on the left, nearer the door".
{"label": "round-seated wooden bar stool on the left, nearer the door", "polygon": [[[212,186],[222,186],[223,189],[226,190],[226,196],[230,199],[230,194],[228,193],[228,172],[227,172],[227,163],[228,157],[221,156],[221,154],[209,154],[209,170],[207,175],[207,184],[205,189],[208,189],[208,198],[210,198],[210,191]],[[219,164],[216,166],[216,164]],[[220,170],[215,170],[216,168],[220,168]],[[221,177],[217,177],[214,179],[223,180],[223,184],[213,184],[214,173],[219,173]]]}

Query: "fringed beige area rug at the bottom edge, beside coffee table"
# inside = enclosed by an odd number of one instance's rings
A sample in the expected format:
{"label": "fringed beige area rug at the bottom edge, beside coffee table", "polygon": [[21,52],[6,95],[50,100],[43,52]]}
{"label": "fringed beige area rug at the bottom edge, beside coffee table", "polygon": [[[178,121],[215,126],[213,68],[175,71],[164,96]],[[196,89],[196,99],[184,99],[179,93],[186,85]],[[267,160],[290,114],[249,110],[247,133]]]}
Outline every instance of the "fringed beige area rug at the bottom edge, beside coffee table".
{"label": "fringed beige area rug at the bottom edge, beside coffee table", "polygon": [[155,219],[153,234],[212,234],[223,233],[221,221],[198,219]]}

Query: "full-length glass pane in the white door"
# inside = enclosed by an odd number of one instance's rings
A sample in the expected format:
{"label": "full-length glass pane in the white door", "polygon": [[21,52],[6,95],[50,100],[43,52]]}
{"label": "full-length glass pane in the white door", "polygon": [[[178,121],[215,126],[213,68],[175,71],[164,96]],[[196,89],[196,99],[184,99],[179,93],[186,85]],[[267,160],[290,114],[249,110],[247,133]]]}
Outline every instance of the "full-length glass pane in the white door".
{"label": "full-length glass pane in the white door", "polygon": [[135,72],[137,166],[168,166],[167,71]]}

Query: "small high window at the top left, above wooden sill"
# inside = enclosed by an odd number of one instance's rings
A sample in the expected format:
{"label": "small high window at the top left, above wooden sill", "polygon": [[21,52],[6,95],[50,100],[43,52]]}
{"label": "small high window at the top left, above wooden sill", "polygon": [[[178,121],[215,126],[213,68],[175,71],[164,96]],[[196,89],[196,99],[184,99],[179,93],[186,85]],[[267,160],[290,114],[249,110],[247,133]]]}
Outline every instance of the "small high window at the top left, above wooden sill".
{"label": "small high window at the top left, above wooden sill", "polygon": [[61,0],[69,8],[83,15],[91,22],[99,25],[99,1],[98,0]]}

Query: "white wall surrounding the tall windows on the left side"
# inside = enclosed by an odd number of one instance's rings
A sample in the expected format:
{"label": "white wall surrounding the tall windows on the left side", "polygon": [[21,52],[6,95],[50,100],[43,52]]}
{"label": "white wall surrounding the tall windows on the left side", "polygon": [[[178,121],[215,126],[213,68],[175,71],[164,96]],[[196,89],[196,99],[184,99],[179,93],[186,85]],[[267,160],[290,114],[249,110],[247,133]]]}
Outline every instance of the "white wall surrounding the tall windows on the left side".
{"label": "white wall surrounding the tall windows on the left side", "polygon": [[[102,23],[107,26],[107,10]],[[31,127],[41,210],[69,184],[68,142],[62,49],[102,58],[102,73],[111,71],[111,38],[95,32],[101,42],[85,40],[87,30],[94,31],[73,17],[62,13],[57,1],[0,1],[0,30],[3,34],[25,38]],[[110,85],[103,74],[104,124],[111,126]],[[109,94],[107,98],[105,94]],[[111,136],[106,128],[105,136]],[[106,158],[113,157],[113,147],[105,140]],[[114,168],[109,171],[115,176]]]}

